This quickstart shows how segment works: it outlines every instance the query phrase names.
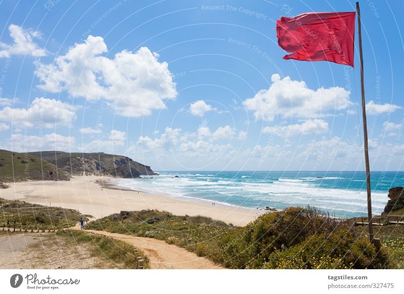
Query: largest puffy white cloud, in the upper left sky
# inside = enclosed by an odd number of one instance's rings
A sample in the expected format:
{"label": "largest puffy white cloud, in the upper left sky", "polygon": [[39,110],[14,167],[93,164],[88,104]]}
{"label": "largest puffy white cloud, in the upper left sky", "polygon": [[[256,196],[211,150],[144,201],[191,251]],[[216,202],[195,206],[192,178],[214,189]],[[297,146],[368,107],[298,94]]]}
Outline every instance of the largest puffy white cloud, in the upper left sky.
{"label": "largest puffy white cloud, in the upper left sky", "polygon": [[84,43],[70,47],[53,64],[37,64],[40,89],[57,93],[66,90],[72,96],[89,101],[106,99],[117,114],[127,117],[149,115],[165,109],[166,99],[177,95],[167,62],[147,47],[137,52],[122,51],[114,59],[102,37],[88,36]]}

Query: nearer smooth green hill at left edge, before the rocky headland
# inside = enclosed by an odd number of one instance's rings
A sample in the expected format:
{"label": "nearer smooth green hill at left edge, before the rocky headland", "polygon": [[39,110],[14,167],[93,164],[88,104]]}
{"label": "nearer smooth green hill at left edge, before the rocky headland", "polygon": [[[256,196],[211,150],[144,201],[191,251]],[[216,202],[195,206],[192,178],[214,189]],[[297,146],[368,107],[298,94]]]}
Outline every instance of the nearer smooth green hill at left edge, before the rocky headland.
{"label": "nearer smooth green hill at left edge, before the rocky headland", "polygon": [[[0,183],[25,180],[69,180],[69,174],[33,154],[0,150]],[[4,184],[2,186],[6,187]]]}

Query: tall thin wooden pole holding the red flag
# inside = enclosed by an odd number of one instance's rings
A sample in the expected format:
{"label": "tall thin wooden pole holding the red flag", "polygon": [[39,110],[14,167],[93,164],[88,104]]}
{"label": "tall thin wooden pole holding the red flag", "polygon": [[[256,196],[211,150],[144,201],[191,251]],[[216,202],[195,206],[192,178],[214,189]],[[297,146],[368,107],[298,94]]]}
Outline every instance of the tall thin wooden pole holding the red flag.
{"label": "tall thin wooden pole holding the red flag", "polygon": [[361,34],[361,11],[359,2],[357,2],[358,13],[358,35],[359,35],[359,57],[361,60],[361,88],[362,88],[362,116],[363,116],[363,136],[365,150],[365,165],[366,165],[366,185],[368,194],[368,222],[369,222],[369,238],[370,242],[374,242],[373,226],[372,226],[372,197],[370,188],[370,166],[369,166],[369,145],[368,145],[368,126],[366,123],[366,107],[365,107],[365,85],[363,81],[363,55],[362,55],[362,34]]}

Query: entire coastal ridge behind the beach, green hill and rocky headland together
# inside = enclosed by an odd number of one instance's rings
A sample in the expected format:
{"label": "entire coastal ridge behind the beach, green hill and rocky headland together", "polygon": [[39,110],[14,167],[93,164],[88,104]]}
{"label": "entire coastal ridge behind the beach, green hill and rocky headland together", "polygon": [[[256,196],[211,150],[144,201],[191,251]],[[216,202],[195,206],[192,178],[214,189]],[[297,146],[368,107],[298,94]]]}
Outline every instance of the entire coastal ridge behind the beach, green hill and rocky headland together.
{"label": "entire coastal ridge behind the beach, green hill and rocky headland together", "polygon": [[70,180],[77,175],[138,178],[157,175],[149,166],[129,157],[105,153],[61,151],[17,153],[0,150],[0,188],[7,182],[26,180]]}

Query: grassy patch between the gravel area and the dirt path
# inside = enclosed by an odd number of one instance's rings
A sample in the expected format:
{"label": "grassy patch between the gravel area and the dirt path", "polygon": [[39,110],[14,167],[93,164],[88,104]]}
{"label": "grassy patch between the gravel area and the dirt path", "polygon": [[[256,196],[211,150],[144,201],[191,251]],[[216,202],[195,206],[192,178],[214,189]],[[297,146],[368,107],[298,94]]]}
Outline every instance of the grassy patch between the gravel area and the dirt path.
{"label": "grassy patch between the gravel area and the dirt path", "polygon": [[69,238],[78,244],[91,245],[91,256],[107,258],[114,263],[121,265],[123,269],[136,269],[137,257],[144,260],[144,268],[149,268],[147,256],[131,244],[108,236],[90,234],[78,230],[60,230],[56,233],[58,237]]}

